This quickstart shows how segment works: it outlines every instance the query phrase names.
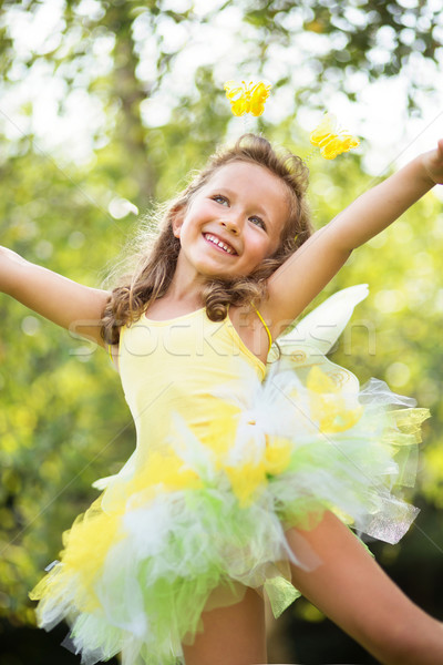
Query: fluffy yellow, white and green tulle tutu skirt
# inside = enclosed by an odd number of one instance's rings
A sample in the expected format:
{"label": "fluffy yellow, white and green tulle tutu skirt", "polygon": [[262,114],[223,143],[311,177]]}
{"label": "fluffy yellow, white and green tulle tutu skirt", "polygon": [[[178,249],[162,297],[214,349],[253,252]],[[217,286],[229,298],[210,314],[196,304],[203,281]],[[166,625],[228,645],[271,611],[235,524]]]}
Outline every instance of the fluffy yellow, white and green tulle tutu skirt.
{"label": "fluffy yellow, white and green tulle tutu skirt", "polygon": [[[362,389],[318,348],[270,365],[249,403],[217,392],[231,413],[203,443],[172,413],[167,452],[130,459],[64,533],[60,561],[33,590],[39,624],[65,618],[84,665],[173,665],[202,612],[264,592],[275,615],[298,595],[289,564],[315,567],[285,531],[332,511],[358,534],[395,543],[418,510],[412,485],[425,409],[372,379]],[[209,427],[209,424],[208,424]]]}

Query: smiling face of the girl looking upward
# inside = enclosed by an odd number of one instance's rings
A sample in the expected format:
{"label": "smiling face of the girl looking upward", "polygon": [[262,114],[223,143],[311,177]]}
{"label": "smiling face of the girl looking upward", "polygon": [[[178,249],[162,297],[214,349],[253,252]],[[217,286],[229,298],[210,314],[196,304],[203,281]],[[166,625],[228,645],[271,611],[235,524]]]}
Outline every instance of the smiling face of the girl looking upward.
{"label": "smiling face of the girl looking upward", "polygon": [[286,185],[258,164],[218,168],[174,223],[177,269],[206,277],[249,275],[279,246],[289,214]]}

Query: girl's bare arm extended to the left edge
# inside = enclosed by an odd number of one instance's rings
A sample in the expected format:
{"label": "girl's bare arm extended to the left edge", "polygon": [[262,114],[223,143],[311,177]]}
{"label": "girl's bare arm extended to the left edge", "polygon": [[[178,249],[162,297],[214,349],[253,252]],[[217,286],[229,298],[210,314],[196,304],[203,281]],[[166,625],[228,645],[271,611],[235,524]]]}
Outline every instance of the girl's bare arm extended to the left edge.
{"label": "girl's bare arm extended to the left edge", "polygon": [[105,290],[82,286],[0,247],[0,291],[54,324],[103,346],[100,319]]}

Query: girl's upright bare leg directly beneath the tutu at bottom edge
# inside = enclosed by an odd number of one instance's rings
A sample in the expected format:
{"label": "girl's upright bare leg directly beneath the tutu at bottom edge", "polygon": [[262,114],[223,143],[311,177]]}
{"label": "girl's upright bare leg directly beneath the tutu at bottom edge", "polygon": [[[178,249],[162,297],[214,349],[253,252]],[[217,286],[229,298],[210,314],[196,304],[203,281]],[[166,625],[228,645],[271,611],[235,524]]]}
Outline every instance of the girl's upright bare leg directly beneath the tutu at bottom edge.
{"label": "girl's upright bare leg directly beneath the tutu at bottom edge", "polygon": [[253,589],[236,605],[202,615],[204,631],[183,647],[186,665],[262,665],[267,662],[265,606]]}

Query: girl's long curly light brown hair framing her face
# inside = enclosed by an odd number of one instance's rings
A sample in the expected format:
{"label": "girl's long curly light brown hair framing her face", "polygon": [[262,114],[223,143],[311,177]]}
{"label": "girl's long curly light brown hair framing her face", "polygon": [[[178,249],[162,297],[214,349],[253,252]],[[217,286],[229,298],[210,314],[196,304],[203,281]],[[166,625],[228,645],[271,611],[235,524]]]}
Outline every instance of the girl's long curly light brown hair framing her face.
{"label": "girl's long curly light brown hair framing her face", "polygon": [[233,162],[258,164],[279,177],[288,191],[288,218],[281,231],[276,252],[249,275],[234,279],[208,279],[202,299],[209,319],[223,320],[229,305],[256,305],[266,298],[266,283],[270,275],[311,235],[309,206],[306,200],[308,167],[289,151],[275,150],[269,141],[255,134],[244,134],[231,147],[222,147],[212,155],[183,192],[163,206],[156,239],[152,242],[152,224],[138,235],[138,249],[132,274],[120,279],[112,290],[103,313],[102,337],[107,344],[117,344],[120,327],[140,319],[151,303],[162,298],[174,276],[179,238],[173,233],[173,221],[178,211],[189,205],[220,167]]}

